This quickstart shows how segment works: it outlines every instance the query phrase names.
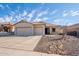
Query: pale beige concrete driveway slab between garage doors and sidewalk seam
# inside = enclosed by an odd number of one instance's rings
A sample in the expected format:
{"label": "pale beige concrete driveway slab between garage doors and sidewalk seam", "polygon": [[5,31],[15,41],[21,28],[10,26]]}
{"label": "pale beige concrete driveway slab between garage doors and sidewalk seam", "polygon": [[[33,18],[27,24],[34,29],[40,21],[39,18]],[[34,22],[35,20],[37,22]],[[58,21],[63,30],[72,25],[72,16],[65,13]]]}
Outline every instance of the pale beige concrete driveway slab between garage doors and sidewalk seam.
{"label": "pale beige concrete driveway slab between garage doors and sidewalk seam", "polygon": [[42,36],[0,37],[0,47],[19,50],[33,50]]}

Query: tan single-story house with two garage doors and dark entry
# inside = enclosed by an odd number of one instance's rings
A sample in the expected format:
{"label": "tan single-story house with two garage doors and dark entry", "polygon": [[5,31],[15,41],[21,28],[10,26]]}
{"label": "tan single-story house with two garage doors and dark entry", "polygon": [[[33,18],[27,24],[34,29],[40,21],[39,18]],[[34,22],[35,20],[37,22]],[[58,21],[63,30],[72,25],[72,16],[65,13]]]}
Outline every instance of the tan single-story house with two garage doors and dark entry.
{"label": "tan single-story house with two garage doors and dark entry", "polygon": [[54,33],[61,33],[62,30],[59,26],[47,24],[44,22],[30,23],[25,20],[14,24],[15,35],[29,36],[29,35],[47,35]]}

